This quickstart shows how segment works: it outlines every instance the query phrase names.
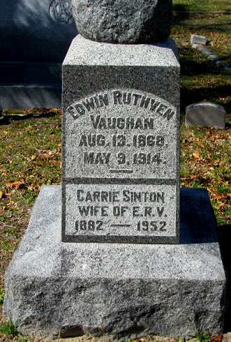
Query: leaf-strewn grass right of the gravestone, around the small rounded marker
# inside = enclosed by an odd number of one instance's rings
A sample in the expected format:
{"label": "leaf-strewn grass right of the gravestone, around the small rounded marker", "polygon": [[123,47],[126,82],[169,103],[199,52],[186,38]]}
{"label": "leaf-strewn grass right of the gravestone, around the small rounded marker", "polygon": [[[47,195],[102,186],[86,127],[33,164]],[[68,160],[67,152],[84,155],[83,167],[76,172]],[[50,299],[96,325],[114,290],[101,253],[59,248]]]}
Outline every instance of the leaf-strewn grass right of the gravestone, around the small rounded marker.
{"label": "leaf-strewn grass right of the gravestone, around the small rounded marker", "polygon": [[[179,12],[231,10],[230,0],[173,0],[173,3],[174,10]],[[172,38],[189,42],[191,34],[206,36],[214,43],[209,49],[231,65],[231,15],[174,13]],[[188,129],[181,125],[181,186],[207,188],[218,224],[230,223],[231,75],[191,45],[179,45],[179,57],[182,122],[185,107],[191,103],[214,102],[223,105],[227,112],[225,131]]]}

